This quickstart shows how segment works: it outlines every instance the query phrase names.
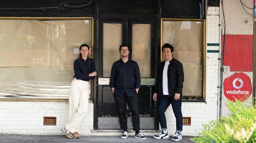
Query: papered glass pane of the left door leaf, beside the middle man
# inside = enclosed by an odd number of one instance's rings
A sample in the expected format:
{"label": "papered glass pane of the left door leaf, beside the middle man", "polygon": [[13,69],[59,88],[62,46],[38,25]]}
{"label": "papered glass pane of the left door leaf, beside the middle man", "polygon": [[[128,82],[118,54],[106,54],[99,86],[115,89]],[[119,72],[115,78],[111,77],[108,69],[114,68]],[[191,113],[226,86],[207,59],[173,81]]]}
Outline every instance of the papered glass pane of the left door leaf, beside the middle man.
{"label": "papered glass pane of the left door leaf, beside the middle man", "polygon": [[110,77],[115,61],[121,59],[122,24],[103,24],[103,77]]}

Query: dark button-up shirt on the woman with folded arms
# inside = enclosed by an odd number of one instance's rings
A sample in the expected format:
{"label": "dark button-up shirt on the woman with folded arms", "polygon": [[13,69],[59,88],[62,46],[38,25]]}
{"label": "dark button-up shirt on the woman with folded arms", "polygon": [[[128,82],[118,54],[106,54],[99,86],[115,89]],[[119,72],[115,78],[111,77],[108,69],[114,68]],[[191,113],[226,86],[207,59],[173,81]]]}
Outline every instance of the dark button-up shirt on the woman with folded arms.
{"label": "dark button-up shirt on the woman with folded arms", "polygon": [[95,76],[89,77],[89,73],[94,71],[96,71],[95,63],[91,58],[87,58],[86,60],[78,58],[74,61],[74,78],[89,82],[90,79],[95,78]]}

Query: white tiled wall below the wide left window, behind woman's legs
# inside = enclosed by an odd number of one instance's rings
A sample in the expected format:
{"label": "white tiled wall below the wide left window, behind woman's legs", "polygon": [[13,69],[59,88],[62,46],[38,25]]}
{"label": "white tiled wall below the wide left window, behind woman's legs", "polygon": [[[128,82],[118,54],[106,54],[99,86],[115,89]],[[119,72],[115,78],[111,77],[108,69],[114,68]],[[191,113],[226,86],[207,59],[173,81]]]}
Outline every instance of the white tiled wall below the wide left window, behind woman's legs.
{"label": "white tiled wall below the wide left window, behind woman's legs", "polygon": [[[68,122],[68,102],[0,102],[0,133],[11,134],[62,134]],[[43,117],[57,117],[56,126],[44,126]],[[81,134],[93,129],[93,104],[79,126]]]}

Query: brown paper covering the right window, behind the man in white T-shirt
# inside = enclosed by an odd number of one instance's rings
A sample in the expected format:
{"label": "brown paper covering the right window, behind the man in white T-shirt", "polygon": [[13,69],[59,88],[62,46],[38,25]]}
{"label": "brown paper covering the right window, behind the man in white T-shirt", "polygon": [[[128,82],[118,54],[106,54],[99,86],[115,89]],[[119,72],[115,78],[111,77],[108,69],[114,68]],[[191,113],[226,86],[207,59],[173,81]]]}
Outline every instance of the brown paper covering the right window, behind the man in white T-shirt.
{"label": "brown paper covering the right window, behind the man in white T-shirt", "polygon": [[174,58],[184,67],[184,96],[202,96],[203,24],[196,21],[164,21],[163,45],[174,47]]}

